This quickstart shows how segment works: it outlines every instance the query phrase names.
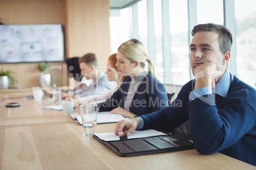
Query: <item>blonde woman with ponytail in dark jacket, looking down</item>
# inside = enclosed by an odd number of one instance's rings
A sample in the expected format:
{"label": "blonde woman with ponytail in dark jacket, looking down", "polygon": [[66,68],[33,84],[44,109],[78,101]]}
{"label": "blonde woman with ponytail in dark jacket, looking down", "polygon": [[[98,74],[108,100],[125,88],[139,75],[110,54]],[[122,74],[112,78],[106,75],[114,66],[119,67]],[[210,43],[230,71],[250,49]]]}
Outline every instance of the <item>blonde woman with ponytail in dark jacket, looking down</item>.
{"label": "blonde woman with ponytail in dark jacket, looking down", "polygon": [[[148,72],[145,72],[148,62]],[[99,104],[99,111],[121,114],[124,117],[155,112],[167,107],[164,85],[155,77],[154,65],[137,39],[124,42],[117,53],[116,63],[120,77],[127,76],[118,90],[106,102]]]}

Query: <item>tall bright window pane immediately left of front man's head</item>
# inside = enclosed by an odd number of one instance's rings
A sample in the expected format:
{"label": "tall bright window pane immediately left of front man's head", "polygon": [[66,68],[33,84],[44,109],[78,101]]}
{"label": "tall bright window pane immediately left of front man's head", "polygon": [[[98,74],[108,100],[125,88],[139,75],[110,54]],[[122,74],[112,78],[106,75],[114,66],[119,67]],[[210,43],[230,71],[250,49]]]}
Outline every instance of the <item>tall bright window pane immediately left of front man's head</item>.
{"label": "tall bright window pane immediately left of front man's head", "polygon": [[169,18],[172,83],[185,84],[190,80],[187,0],[169,1]]}

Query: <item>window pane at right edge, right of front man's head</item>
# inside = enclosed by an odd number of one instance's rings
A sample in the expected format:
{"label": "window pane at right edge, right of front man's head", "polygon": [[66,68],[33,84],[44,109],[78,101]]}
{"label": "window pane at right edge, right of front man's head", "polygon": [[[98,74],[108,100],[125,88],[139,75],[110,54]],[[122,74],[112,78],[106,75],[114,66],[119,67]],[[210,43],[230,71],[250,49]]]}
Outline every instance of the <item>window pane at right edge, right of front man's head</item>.
{"label": "window pane at right edge, right of front man's head", "polygon": [[256,88],[256,1],[236,0],[234,5],[238,78]]}

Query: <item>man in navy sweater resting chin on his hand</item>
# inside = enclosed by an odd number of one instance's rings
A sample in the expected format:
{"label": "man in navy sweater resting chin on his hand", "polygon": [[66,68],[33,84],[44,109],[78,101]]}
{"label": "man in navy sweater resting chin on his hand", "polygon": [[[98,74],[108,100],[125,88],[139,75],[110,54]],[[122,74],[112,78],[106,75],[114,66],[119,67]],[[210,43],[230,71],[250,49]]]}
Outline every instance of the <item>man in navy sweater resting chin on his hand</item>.
{"label": "man in navy sweater resting chin on his hand", "polygon": [[192,36],[195,79],[163,110],[118,122],[115,134],[129,136],[135,129],[150,128],[172,131],[189,120],[199,153],[220,152],[256,166],[256,90],[227,70],[232,34],[223,25],[206,23],[196,25]]}

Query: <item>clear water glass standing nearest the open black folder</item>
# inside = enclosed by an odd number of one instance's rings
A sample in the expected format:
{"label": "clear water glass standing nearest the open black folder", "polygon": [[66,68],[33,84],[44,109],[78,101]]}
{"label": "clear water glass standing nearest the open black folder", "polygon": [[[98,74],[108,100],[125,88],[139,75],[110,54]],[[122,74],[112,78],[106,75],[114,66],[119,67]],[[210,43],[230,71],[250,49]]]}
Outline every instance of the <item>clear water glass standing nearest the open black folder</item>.
{"label": "clear water glass standing nearest the open black folder", "polygon": [[82,118],[83,135],[88,136],[96,133],[97,105],[83,103],[83,105],[80,105],[80,114]]}

